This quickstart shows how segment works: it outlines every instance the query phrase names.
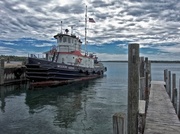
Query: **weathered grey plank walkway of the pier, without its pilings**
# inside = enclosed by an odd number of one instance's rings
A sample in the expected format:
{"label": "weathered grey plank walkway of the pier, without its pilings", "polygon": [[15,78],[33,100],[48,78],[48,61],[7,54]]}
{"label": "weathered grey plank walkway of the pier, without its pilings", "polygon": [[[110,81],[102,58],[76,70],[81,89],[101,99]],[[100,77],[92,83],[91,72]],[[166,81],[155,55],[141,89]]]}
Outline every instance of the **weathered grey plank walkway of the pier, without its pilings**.
{"label": "weathered grey plank walkway of the pier, without its pilings", "polygon": [[151,82],[144,134],[180,134],[180,122],[164,85]]}

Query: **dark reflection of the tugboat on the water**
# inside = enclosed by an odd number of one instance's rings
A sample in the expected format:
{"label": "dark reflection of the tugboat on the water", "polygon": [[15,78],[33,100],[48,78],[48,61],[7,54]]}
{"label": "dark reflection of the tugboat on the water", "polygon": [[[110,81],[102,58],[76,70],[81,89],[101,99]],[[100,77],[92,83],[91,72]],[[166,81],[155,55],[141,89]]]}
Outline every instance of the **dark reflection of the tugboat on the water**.
{"label": "dark reflection of the tugboat on the water", "polygon": [[53,88],[47,87],[36,91],[28,90],[25,103],[29,106],[29,113],[34,114],[46,109],[46,111],[54,113],[53,125],[69,128],[76,120],[78,112],[83,109],[83,104],[86,103],[86,95],[82,96],[81,92],[86,90],[89,84],[93,84],[93,81]]}

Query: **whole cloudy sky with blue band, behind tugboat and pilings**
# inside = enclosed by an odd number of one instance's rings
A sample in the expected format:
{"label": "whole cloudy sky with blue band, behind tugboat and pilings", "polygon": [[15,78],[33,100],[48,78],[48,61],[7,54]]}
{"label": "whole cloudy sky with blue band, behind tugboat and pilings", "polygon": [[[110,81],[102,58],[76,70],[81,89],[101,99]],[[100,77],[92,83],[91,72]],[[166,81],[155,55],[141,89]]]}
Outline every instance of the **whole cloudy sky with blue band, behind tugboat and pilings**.
{"label": "whole cloudy sky with blue band, behind tugboat and pilings", "polygon": [[88,51],[100,60],[127,60],[130,43],[150,60],[180,60],[180,0],[0,0],[0,55],[49,50],[61,21],[84,42],[86,5],[96,21],[88,23]]}

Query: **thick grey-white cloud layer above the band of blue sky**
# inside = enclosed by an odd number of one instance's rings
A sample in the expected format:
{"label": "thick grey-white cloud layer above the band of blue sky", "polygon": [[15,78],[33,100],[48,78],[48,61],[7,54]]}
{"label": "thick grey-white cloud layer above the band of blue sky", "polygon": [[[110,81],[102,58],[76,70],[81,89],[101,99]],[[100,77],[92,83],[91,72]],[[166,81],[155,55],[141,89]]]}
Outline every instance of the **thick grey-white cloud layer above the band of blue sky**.
{"label": "thick grey-white cloud layer above the band of blue sky", "polygon": [[[12,0],[0,1],[0,38],[23,37],[49,40],[63,28],[76,25],[76,32],[84,37],[85,3],[88,17],[88,40],[92,44],[113,41],[136,41],[149,44],[174,43],[180,47],[179,0]],[[83,31],[83,32],[82,32]],[[177,52],[172,46],[159,47],[163,52]],[[169,50],[171,51],[168,51]],[[179,51],[179,50],[178,50]]]}

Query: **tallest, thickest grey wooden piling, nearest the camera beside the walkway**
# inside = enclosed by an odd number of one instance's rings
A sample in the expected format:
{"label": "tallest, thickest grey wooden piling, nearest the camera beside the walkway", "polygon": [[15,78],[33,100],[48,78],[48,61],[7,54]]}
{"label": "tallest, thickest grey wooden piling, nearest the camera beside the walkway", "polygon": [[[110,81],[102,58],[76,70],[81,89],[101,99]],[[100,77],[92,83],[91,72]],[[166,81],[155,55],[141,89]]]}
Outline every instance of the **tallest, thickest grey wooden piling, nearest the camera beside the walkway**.
{"label": "tallest, thickest grey wooden piling, nearest the camera beside the walkway", "polygon": [[128,134],[138,133],[139,44],[128,46]]}

